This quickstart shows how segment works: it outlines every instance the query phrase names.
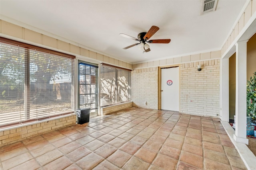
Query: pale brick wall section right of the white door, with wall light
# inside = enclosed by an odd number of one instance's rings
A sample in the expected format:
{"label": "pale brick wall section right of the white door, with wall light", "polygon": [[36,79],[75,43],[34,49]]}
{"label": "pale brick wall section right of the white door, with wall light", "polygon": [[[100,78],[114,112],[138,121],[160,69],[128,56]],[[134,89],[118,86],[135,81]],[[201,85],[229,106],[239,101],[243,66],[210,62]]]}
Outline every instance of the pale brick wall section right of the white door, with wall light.
{"label": "pale brick wall section right of the white door, with wall light", "polygon": [[218,117],[219,84],[220,59],[180,64],[180,112]]}

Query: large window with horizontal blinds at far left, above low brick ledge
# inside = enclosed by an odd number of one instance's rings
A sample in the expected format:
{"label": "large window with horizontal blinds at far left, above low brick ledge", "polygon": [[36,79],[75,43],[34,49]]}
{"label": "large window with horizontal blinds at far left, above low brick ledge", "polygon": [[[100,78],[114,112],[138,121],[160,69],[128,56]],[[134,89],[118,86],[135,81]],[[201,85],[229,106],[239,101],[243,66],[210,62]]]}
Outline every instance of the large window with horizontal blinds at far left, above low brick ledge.
{"label": "large window with horizontal blinds at far left, above low brick ledge", "polygon": [[0,40],[0,128],[74,112],[74,56]]}

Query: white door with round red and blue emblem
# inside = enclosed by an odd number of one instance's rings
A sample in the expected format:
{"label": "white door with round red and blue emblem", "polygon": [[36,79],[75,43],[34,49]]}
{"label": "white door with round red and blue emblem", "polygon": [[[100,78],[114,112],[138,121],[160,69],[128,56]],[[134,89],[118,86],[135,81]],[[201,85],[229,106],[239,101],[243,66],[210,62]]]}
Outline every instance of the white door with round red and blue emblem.
{"label": "white door with round red and blue emblem", "polygon": [[161,109],[179,111],[179,67],[161,68]]}

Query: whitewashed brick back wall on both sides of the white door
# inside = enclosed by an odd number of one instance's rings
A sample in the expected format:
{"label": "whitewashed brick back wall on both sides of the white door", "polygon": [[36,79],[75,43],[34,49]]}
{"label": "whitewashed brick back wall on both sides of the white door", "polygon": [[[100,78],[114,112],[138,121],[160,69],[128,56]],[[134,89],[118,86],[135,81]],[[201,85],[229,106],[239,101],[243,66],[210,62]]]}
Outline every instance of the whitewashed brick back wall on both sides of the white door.
{"label": "whitewashed brick back wall on both sides of the white door", "polygon": [[[219,117],[219,85],[220,59],[180,64],[180,113]],[[133,106],[158,109],[158,67],[132,70],[131,88]]]}

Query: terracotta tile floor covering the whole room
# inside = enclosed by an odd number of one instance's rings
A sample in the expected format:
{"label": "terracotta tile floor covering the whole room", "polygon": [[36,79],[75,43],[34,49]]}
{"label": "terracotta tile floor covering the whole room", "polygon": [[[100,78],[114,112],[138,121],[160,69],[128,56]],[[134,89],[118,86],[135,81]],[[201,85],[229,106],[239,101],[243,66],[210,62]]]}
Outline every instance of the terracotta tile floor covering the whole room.
{"label": "terracotta tile floor covering the whole room", "polygon": [[0,148],[8,170],[246,169],[219,119],[129,108]]}

